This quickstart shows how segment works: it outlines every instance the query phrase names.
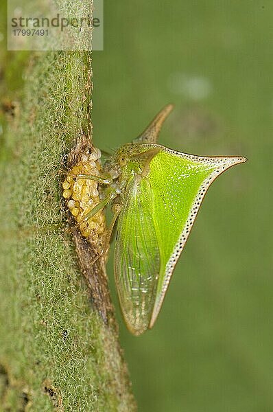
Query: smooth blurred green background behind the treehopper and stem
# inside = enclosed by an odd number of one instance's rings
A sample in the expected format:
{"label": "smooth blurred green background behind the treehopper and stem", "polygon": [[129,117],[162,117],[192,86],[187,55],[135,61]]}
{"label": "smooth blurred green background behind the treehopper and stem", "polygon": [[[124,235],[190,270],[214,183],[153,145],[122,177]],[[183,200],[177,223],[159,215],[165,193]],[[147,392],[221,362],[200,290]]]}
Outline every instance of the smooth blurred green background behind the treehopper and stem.
{"label": "smooth blurred green background behind the treehopper and stem", "polygon": [[272,1],[104,1],[95,144],[173,102],[161,144],[248,157],[209,190],[154,329],[120,322],[141,412],[273,411],[272,38]]}

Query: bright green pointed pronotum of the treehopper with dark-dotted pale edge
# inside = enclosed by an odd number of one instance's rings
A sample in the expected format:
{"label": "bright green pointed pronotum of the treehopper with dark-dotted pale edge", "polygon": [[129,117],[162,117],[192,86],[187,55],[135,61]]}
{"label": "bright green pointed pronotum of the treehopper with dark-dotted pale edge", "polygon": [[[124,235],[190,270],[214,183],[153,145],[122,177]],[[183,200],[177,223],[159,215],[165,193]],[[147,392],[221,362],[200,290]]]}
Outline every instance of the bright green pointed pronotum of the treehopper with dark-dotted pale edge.
{"label": "bright green pointed pronotum of the treehopper with dark-dotted pale edge", "polygon": [[[147,145],[148,147],[159,145]],[[161,268],[149,328],[163,304],[174,266],[182,252],[206,190],[219,174],[244,157],[198,157],[159,146],[150,161],[154,225]]]}

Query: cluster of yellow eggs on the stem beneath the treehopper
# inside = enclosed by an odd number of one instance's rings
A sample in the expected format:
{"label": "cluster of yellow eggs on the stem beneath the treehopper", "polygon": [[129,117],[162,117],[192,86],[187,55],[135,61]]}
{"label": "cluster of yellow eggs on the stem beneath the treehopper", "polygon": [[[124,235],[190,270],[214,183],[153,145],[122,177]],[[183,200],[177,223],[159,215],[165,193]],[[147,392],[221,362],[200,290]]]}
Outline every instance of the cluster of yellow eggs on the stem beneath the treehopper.
{"label": "cluster of yellow eggs on the stem beneath the treehopper", "polygon": [[80,161],[69,170],[66,179],[62,183],[64,190],[62,196],[67,199],[67,206],[76,222],[78,222],[82,236],[93,242],[97,242],[106,225],[102,210],[98,211],[92,218],[84,219],[86,214],[99,203],[98,183],[91,179],[82,179],[78,175],[99,175],[102,170],[100,157],[101,152],[99,149],[94,148],[92,152],[86,149],[82,153]]}

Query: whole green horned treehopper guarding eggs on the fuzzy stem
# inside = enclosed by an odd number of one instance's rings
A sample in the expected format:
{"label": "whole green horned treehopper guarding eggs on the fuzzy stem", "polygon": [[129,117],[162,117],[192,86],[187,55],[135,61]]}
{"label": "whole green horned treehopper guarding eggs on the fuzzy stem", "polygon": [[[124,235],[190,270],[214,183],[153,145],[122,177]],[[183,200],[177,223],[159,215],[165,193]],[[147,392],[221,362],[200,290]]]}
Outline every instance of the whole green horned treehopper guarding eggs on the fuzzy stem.
{"label": "whole green horned treehopper guarding eggs on the fuzzy stem", "polygon": [[172,108],[165,106],[137,139],[111,155],[102,176],[85,176],[105,189],[84,219],[112,203],[108,239],[116,222],[115,283],[123,318],[134,335],[154,326],[209,186],[219,174],[246,161],[188,155],[157,144]]}

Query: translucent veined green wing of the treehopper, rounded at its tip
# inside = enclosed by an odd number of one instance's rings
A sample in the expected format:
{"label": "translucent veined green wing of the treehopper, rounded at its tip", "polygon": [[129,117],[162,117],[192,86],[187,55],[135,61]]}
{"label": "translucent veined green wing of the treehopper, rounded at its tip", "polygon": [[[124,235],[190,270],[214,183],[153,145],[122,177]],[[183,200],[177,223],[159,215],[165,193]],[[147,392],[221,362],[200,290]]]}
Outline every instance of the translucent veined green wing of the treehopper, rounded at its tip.
{"label": "translucent veined green wing of the treehopper, rounded at its tip", "polygon": [[115,282],[126,325],[138,335],[150,323],[160,271],[150,181],[135,176],[125,199],[117,222]]}

